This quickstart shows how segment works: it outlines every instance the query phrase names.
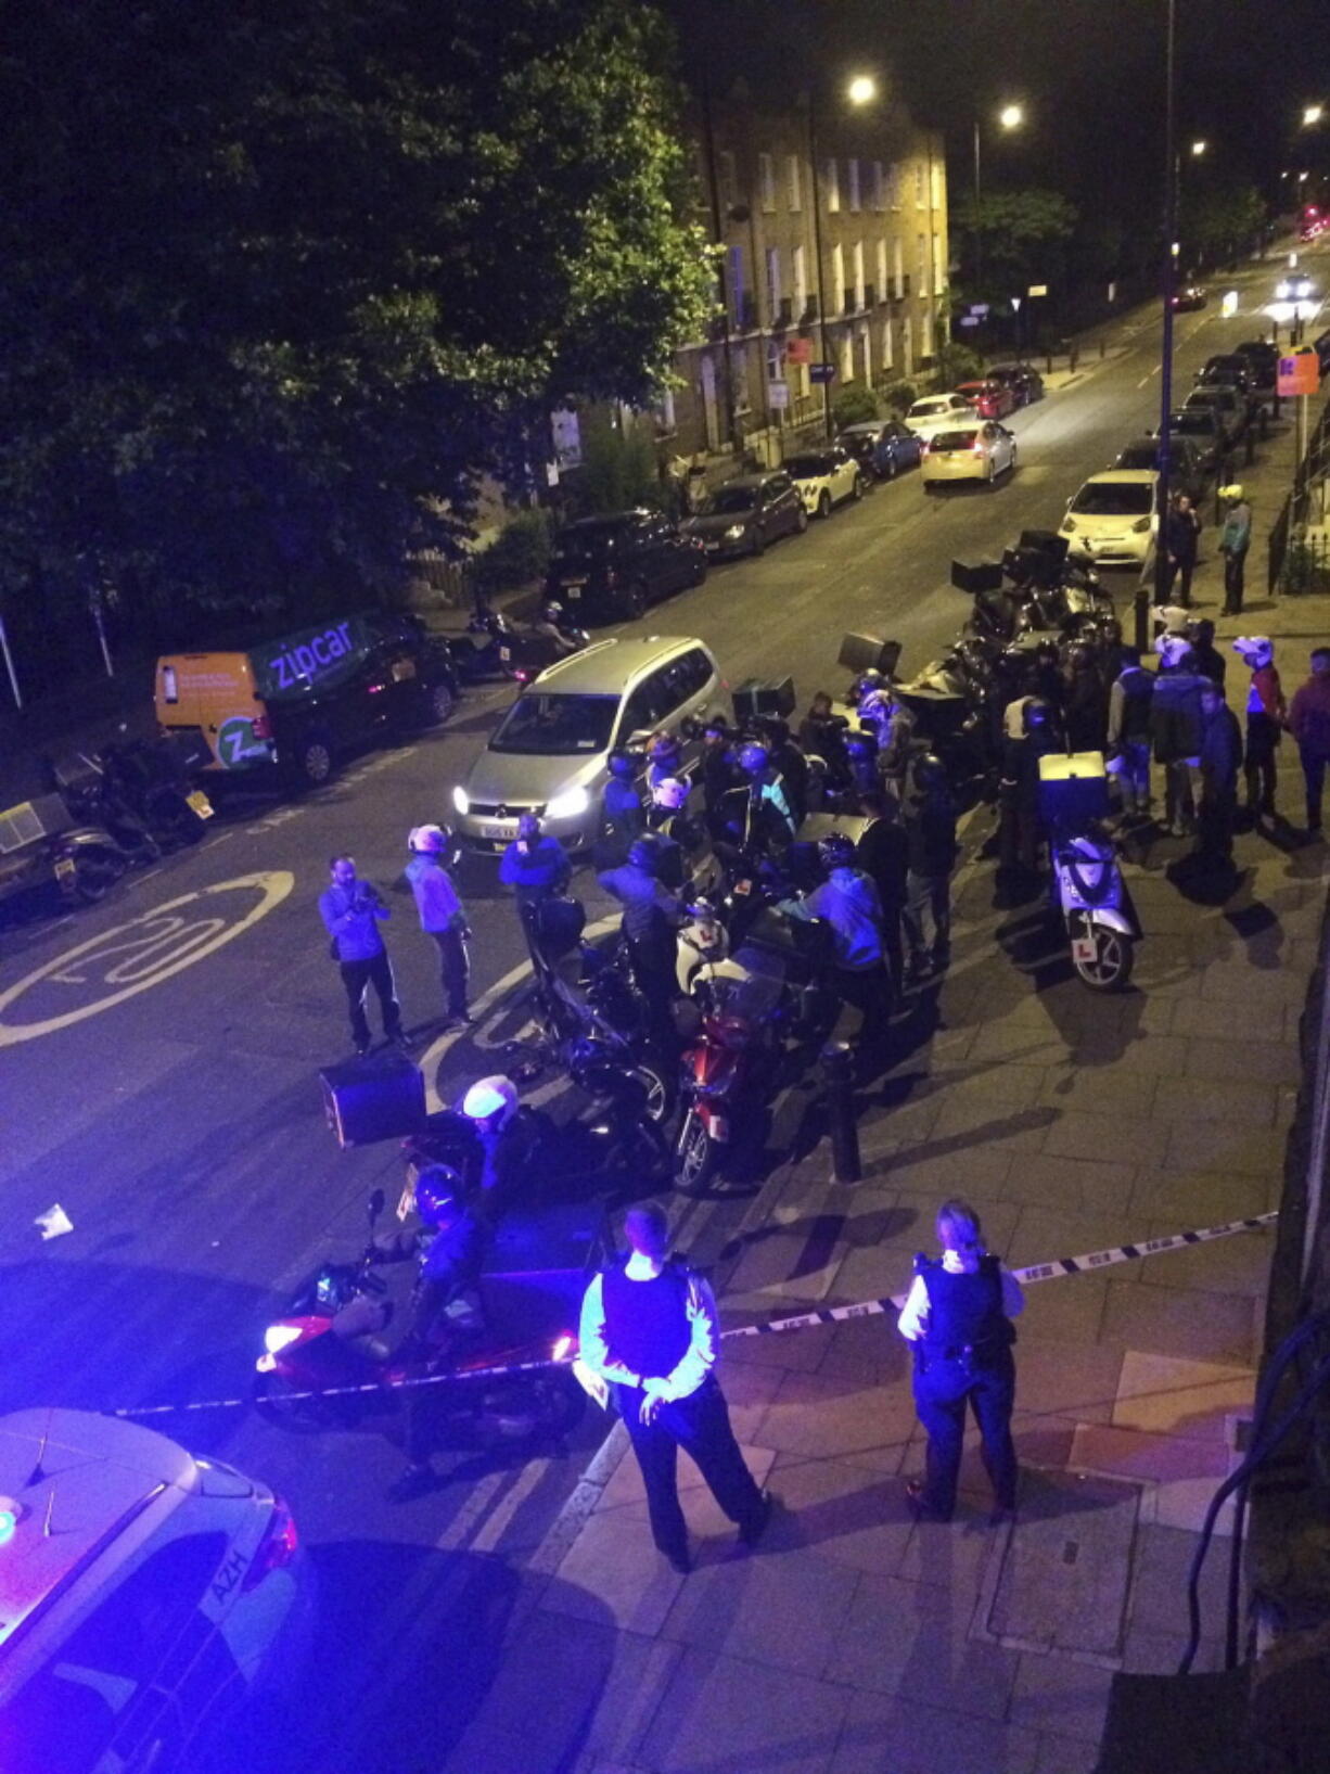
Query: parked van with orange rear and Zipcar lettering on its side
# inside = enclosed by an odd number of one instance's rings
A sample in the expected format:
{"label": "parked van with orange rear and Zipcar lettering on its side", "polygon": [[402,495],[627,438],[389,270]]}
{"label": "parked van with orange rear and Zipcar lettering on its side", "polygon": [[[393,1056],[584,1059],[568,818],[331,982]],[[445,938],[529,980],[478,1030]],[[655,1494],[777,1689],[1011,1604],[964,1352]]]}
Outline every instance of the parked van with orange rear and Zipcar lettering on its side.
{"label": "parked van with orange rear and Zipcar lettering on its side", "polygon": [[167,653],[158,731],[204,759],[209,788],[326,782],[337,759],[445,720],[458,701],[447,648],[410,616],[358,610],[246,648]]}

